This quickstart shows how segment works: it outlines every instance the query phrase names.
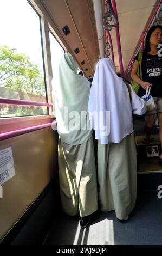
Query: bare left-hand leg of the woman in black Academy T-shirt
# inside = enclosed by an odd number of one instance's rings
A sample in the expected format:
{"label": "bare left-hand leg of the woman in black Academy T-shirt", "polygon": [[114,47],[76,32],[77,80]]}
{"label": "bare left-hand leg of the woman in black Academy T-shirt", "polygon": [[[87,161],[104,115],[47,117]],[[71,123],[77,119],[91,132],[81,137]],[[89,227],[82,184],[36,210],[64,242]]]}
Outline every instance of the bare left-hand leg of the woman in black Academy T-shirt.
{"label": "bare left-hand leg of the woman in black Academy T-shirt", "polygon": [[[145,141],[149,142],[151,131],[155,124],[154,114],[145,114],[145,122],[146,122],[146,124],[145,124],[145,133],[146,133]],[[162,123],[161,123],[161,127],[162,127]]]}

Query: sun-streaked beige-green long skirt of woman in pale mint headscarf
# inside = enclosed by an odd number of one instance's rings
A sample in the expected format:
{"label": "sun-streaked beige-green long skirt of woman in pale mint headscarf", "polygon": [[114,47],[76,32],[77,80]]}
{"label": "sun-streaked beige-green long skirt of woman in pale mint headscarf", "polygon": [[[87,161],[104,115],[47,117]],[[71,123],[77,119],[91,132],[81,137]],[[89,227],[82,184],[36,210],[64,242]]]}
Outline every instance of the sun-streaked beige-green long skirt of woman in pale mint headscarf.
{"label": "sun-streaked beige-green long skirt of woman in pale mint headscarf", "polygon": [[63,211],[81,217],[98,209],[93,138],[69,145],[59,138],[59,180]]}

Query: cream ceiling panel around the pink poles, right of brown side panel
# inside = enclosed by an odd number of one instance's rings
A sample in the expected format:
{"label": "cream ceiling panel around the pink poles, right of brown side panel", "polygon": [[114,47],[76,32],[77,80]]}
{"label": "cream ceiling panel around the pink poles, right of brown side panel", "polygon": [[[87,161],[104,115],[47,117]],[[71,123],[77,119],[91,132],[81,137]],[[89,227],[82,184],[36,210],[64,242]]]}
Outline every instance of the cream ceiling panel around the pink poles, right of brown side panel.
{"label": "cream ceiling panel around the pink poles, right of brown side panel", "polygon": [[[160,1],[155,0],[144,0],[144,1],[134,1],[134,0],[116,0],[108,1],[103,0],[103,14],[106,14],[106,4],[112,3],[114,9],[114,3],[116,3],[116,9],[118,11],[117,18],[119,22],[119,39],[121,42],[121,53],[118,45],[118,38],[116,33],[116,27],[112,27],[111,31],[105,31],[104,42],[110,42],[107,39],[107,33],[111,34],[111,40],[113,42],[113,55],[114,63],[116,67],[116,72],[122,73],[122,64],[124,71],[127,71],[127,65],[132,58],[135,48],[138,46],[138,42],[141,39],[142,32],[144,31],[147,24],[152,19],[154,10],[157,5],[160,5]],[[115,10],[114,10],[115,13]],[[104,17],[104,16],[103,16]],[[115,19],[113,21],[115,23]],[[109,36],[108,36],[109,37]],[[109,49],[109,57],[112,58],[111,48]]]}

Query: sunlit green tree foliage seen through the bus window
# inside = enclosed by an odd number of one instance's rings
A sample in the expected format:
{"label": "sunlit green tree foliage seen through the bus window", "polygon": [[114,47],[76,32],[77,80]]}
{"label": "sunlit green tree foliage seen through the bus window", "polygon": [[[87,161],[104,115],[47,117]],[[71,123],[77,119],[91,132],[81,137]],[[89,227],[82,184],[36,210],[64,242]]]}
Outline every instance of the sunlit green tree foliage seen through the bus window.
{"label": "sunlit green tree foliage seen through the bus window", "polygon": [[46,95],[44,77],[38,66],[30,62],[29,56],[6,45],[0,46],[0,87]]}

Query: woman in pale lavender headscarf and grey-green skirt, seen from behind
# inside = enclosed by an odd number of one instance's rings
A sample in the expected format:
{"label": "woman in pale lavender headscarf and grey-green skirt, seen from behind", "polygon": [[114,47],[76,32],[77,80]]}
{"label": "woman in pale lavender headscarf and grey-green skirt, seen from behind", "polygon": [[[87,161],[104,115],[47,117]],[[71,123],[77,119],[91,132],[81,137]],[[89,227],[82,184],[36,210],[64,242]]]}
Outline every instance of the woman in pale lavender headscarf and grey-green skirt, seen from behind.
{"label": "woman in pale lavender headscarf and grey-green skirt, seen from behind", "polygon": [[127,220],[137,196],[137,154],[132,112],[144,114],[146,103],[116,75],[111,59],[98,62],[88,112],[98,143],[98,181],[101,211],[115,210]]}

